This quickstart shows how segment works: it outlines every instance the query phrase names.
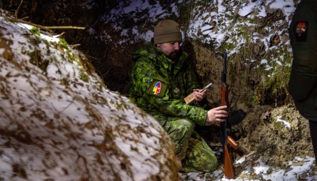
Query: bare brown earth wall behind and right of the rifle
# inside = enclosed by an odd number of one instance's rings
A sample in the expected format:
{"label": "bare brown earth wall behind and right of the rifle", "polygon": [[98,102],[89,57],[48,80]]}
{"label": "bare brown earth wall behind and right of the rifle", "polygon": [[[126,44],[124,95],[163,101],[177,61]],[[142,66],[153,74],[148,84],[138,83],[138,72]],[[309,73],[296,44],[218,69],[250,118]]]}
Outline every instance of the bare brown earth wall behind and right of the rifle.
{"label": "bare brown earth wall behind and right of the rifle", "polygon": [[[210,108],[216,107],[219,100],[223,60],[215,55],[212,49],[195,42],[191,43],[187,51],[191,56],[190,59],[195,60],[192,64],[202,86],[213,82],[212,87],[208,89],[207,100]],[[252,159],[249,161],[235,165],[236,174],[250,164],[250,161],[252,165],[256,164],[254,162],[259,158],[274,169],[286,168],[288,161],[295,157],[314,157],[308,120],[299,114],[289,96],[280,100],[271,97],[266,101],[268,104],[256,104],[254,98],[251,98],[255,95],[256,89],[256,86],[250,83],[253,81],[252,74],[253,72],[243,63],[232,63],[230,58],[227,59],[230,114],[234,114],[239,109],[247,114],[240,124],[232,126],[230,130],[231,136],[241,148],[232,150],[233,159],[252,154]],[[210,127],[197,126],[196,129],[208,144],[220,145],[219,124]],[[219,169],[223,169],[222,165]]]}

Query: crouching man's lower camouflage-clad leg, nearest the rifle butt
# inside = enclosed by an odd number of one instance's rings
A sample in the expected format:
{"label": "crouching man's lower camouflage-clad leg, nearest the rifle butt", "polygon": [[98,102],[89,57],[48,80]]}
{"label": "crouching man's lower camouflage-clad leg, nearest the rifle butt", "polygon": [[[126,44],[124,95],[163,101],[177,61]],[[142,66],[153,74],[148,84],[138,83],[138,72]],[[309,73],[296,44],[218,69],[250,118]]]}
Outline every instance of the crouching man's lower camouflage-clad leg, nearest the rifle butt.
{"label": "crouching man's lower camouflage-clad leg, nearest the rifle butt", "polygon": [[211,172],[218,166],[217,157],[198,133],[194,132],[189,139],[185,159],[182,160],[181,171]]}

